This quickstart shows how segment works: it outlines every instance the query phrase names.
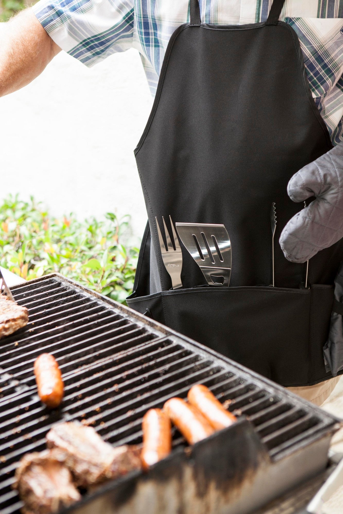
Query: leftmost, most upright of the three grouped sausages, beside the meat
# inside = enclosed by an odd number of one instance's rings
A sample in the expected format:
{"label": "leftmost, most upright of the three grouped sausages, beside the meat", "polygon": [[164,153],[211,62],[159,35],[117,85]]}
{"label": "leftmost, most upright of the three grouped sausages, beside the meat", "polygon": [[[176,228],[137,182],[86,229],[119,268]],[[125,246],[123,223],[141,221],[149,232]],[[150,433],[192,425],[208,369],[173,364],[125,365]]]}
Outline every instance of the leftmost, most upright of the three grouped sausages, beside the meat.
{"label": "leftmost, most upright of the three grouped sausages, beside the meat", "polygon": [[143,417],[143,468],[161,461],[171,450],[170,419],[161,409],[150,409]]}

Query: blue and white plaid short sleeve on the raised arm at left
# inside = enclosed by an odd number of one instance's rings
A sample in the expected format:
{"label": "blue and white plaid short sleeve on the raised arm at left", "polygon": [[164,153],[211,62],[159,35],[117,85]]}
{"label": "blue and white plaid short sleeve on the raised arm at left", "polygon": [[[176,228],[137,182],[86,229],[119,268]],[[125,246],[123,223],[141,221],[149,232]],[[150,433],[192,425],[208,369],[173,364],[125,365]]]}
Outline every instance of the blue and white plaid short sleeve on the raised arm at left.
{"label": "blue and white plaid short sleeve on the raised arm at left", "polygon": [[32,9],[55,43],[87,66],[132,47],[134,0],[40,0]]}

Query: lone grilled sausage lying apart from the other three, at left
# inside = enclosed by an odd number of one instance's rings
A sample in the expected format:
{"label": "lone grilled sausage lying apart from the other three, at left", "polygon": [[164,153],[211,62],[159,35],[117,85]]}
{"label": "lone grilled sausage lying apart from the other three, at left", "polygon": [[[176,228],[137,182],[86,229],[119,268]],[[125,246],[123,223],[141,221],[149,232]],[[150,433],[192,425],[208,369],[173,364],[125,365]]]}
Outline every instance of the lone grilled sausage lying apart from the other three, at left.
{"label": "lone grilled sausage lying apart from the other three, at left", "polygon": [[50,409],[56,409],[63,398],[63,380],[58,363],[50,354],[37,357],[33,367],[40,399]]}

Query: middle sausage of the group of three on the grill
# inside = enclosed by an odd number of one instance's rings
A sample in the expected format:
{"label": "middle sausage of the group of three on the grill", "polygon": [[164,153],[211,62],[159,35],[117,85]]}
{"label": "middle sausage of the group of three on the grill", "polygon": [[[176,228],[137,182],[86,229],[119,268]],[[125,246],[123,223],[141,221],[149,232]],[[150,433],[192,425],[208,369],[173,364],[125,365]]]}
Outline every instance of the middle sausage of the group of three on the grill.
{"label": "middle sausage of the group of three on the grill", "polygon": [[193,405],[181,398],[170,398],[165,402],[163,410],[190,445],[214,432],[208,420]]}

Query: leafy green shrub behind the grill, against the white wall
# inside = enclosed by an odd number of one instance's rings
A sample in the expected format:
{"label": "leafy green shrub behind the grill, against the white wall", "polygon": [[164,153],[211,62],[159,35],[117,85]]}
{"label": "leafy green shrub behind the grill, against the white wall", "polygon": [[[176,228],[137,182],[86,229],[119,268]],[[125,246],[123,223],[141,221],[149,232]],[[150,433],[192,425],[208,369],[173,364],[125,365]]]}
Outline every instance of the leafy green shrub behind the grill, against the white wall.
{"label": "leafy green shrub behind the grill, against the white wall", "polygon": [[131,293],[138,248],[121,244],[129,216],[104,221],[51,218],[31,197],[9,196],[0,205],[0,266],[30,280],[59,272],[124,303]]}

